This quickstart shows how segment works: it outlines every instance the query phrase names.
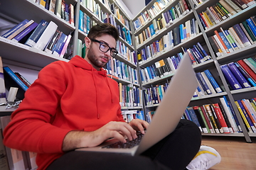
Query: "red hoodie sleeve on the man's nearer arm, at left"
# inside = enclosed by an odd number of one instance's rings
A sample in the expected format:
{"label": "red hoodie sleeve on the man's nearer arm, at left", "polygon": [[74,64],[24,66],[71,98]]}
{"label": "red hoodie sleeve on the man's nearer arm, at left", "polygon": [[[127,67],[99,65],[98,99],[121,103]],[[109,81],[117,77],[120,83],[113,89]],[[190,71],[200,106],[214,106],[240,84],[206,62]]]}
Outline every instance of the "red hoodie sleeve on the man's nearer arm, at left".
{"label": "red hoodie sleeve on the man's nearer arm, at left", "polygon": [[63,139],[70,130],[50,124],[66,87],[65,70],[60,63],[53,62],[39,72],[19,108],[11,114],[11,122],[4,129],[7,147],[38,153],[62,152]]}

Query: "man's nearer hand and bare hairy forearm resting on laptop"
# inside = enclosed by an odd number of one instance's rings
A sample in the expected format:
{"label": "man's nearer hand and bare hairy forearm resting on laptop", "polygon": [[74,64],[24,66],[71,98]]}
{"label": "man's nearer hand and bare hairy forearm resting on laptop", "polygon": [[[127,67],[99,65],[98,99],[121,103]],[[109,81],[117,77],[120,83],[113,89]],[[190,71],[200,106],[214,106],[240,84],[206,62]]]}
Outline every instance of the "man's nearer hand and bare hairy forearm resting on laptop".
{"label": "man's nearer hand and bare hairy forearm resting on laptop", "polygon": [[145,123],[142,124],[137,120],[133,122],[130,125],[123,122],[110,122],[92,132],[70,131],[63,140],[63,152],[79,147],[95,147],[110,137],[120,142],[126,142],[125,137],[128,140],[136,139],[136,130],[143,130]]}

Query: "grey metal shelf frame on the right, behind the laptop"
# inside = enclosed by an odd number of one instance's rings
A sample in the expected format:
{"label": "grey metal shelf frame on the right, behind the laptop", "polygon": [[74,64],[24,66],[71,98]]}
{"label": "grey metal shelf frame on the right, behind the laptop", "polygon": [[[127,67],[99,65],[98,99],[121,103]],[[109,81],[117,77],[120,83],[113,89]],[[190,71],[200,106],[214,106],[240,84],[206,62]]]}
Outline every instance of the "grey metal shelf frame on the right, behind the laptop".
{"label": "grey metal shelf frame on the right, behind the laptop", "polygon": [[[149,9],[156,4],[156,0],[151,1],[145,8],[140,11],[137,16],[135,16],[132,19],[132,23],[134,24],[140,16],[142,16],[142,13],[146,13],[149,11]],[[195,45],[197,42],[200,42],[203,46],[204,50],[210,55],[211,59],[207,60],[205,62],[201,62],[199,64],[193,65],[193,68],[195,72],[203,72],[206,69],[209,69],[210,72],[213,74],[213,77],[215,77],[218,84],[220,84],[220,88],[223,89],[223,92],[216,93],[216,94],[208,94],[204,96],[198,96],[193,97],[191,99],[191,103],[189,106],[202,106],[207,103],[219,103],[219,98],[222,96],[226,96],[229,98],[229,101],[231,105],[233,106],[233,109],[235,111],[235,115],[238,117],[238,121],[241,125],[242,132],[237,133],[223,133],[223,134],[217,134],[217,133],[202,133],[202,135],[218,135],[218,136],[237,136],[237,137],[245,137],[246,142],[251,142],[250,137],[255,137],[255,132],[247,132],[245,128],[245,124],[243,123],[243,120],[240,116],[240,113],[238,111],[238,108],[235,106],[235,101],[240,100],[242,98],[255,98],[255,86],[252,86],[250,88],[245,89],[237,89],[237,90],[231,90],[228,86],[228,82],[226,81],[223,72],[220,69],[220,65],[222,64],[228,64],[229,62],[237,62],[238,60],[242,60],[248,57],[252,57],[255,55],[255,44],[252,44],[247,47],[240,48],[239,50],[235,50],[233,52],[227,53],[225,55],[217,56],[215,52],[213,51],[213,47],[210,45],[210,42],[208,40],[208,37],[214,35],[214,30],[218,30],[220,32],[220,28],[228,29],[231,26],[234,26],[237,23],[240,23],[242,21],[245,21],[245,19],[250,18],[252,16],[252,11],[255,10],[256,4],[252,4],[252,6],[249,6],[242,11],[236,13],[233,16],[230,16],[229,18],[220,21],[220,23],[215,24],[214,26],[211,26],[210,28],[204,28],[203,24],[200,22],[200,19],[198,18],[198,14],[202,11],[206,11],[207,7],[214,6],[218,3],[217,0],[215,1],[203,1],[201,4],[195,5],[194,1],[187,1],[188,6],[190,6],[190,10],[186,12],[183,16],[179,17],[178,19],[174,20],[171,24],[159,29],[157,33],[154,35],[149,36],[149,38],[146,38],[146,40],[137,41],[136,44],[136,50],[139,50],[139,52],[142,52],[143,49],[146,49],[148,45],[151,45],[156,40],[161,40],[161,38],[169,33],[171,30],[174,30],[177,26],[179,26],[181,23],[185,23],[188,20],[191,20],[192,18],[195,18],[198,22],[198,28],[199,33],[197,33],[192,38],[185,40],[181,43],[178,43],[178,45],[174,45],[174,47],[171,47],[171,49],[161,50],[160,52],[156,53],[156,55],[153,55],[152,57],[146,58],[146,60],[142,60],[142,62],[139,62],[139,70],[145,69],[146,67],[150,67],[154,65],[156,62],[159,62],[160,60],[164,60],[168,57],[171,57],[173,55],[177,55],[178,52],[183,52],[183,49],[191,48],[193,45]],[[144,30],[146,30],[147,27],[153,23],[154,19],[161,18],[161,13],[165,13],[166,11],[169,11],[172,7],[174,7],[176,4],[178,4],[178,1],[173,0],[169,1],[164,8],[161,8],[159,12],[156,12],[154,16],[151,16],[150,18],[144,20],[141,22],[142,24],[140,26],[136,26],[135,24],[135,30],[134,30],[134,36],[139,36],[139,34],[143,33]],[[160,84],[166,84],[168,81],[170,81],[171,77],[174,75],[175,72],[171,72],[169,74],[166,74],[164,77],[156,77],[154,79],[150,79],[149,81],[142,82],[142,89],[149,89],[156,85]],[[145,114],[150,111],[155,111],[156,107],[159,106],[159,104],[146,104],[144,102],[144,109]]]}

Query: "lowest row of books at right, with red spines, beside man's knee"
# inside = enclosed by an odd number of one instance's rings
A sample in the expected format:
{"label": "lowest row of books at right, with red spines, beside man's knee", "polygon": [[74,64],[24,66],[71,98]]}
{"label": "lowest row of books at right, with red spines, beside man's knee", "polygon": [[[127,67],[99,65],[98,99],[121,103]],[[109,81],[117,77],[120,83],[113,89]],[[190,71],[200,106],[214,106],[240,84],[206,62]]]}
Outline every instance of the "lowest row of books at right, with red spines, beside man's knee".
{"label": "lowest row of books at right, with red spines, beside man's knee", "polygon": [[[256,98],[235,101],[247,132],[256,132]],[[238,116],[225,96],[219,103],[186,108],[183,118],[191,120],[203,133],[242,132]]]}

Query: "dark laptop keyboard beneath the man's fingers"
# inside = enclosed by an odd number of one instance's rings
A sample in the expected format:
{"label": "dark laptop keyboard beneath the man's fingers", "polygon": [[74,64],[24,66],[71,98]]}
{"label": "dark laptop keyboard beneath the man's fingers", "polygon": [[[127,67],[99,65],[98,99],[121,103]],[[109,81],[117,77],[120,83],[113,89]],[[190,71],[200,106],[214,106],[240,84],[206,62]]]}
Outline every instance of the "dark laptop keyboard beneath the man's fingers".
{"label": "dark laptop keyboard beneath the man's fingers", "polygon": [[139,142],[141,142],[143,136],[144,136],[144,134],[142,134],[141,132],[137,132],[137,138],[135,140],[130,140],[130,141],[127,140],[126,143],[115,142],[111,145],[107,145],[102,148],[132,148],[132,147],[139,145]]}

